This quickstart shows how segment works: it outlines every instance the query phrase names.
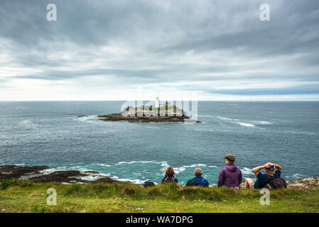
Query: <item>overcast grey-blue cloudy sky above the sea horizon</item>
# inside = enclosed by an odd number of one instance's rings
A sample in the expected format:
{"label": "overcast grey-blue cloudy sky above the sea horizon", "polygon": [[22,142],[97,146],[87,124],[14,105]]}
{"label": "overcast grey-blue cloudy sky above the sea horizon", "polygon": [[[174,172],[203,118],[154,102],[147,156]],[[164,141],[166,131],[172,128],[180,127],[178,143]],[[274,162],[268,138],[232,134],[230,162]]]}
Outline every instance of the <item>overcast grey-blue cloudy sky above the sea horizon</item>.
{"label": "overcast grey-blue cloudy sky above the sea horizon", "polygon": [[0,100],[319,101],[318,35],[318,0],[1,0]]}

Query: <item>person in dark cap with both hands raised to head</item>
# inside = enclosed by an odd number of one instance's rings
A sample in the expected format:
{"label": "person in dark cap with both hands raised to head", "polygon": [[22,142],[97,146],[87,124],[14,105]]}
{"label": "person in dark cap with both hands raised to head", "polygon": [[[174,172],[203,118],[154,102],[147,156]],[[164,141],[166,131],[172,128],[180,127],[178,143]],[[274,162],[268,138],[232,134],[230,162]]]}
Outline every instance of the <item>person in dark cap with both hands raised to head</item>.
{"label": "person in dark cap with both hands raised to head", "polygon": [[[275,168],[277,169],[275,172]],[[265,169],[266,174],[261,173],[260,170]],[[250,178],[246,178],[245,188],[247,189],[262,189],[266,184],[271,182],[272,179],[279,178],[281,176],[282,167],[271,162],[267,162],[265,165],[257,166],[252,169],[252,172],[257,176],[256,182]]]}

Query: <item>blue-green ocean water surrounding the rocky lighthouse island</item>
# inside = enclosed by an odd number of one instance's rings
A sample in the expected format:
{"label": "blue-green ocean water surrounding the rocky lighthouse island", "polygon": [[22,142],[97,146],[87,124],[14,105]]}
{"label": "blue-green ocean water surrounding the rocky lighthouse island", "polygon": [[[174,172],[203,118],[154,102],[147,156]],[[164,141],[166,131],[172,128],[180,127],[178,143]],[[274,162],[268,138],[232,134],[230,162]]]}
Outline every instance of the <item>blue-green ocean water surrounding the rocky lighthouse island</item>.
{"label": "blue-green ocean water surrounding the rocky lighthouse island", "polygon": [[319,175],[319,102],[199,101],[196,124],[97,120],[123,103],[0,102],[0,165],[97,170],[136,183],[160,182],[171,165],[181,184],[201,167],[217,184],[232,153],[244,177],[265,162],[281,165],[287,180]]}

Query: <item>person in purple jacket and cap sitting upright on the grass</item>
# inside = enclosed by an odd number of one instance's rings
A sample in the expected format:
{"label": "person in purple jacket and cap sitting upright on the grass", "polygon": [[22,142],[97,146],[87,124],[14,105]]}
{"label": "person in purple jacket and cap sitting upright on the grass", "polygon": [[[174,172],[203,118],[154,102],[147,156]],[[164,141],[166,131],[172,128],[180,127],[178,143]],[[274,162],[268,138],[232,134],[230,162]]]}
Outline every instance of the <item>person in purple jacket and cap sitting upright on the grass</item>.
{"label": "person in purple jacket and cap sitting upright on the grass", "polygon": [[226,166],[220,170],[220,175],[218,176],[218,186],[239,189],[239,184],[242,183],[242,171],[240,171],[239,168],[234,165],[234,155],[227,154],[224,159]]}

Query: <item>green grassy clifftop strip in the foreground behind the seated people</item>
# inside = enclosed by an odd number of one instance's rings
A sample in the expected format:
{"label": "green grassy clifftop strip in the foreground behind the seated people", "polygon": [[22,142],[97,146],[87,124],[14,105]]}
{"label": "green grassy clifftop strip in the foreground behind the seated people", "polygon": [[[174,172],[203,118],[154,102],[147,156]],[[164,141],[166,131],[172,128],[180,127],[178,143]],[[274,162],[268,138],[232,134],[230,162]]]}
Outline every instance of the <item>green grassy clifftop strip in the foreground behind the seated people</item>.
{"label": "green grassy clifftop strip in the foreground behind the seated people", "polygon": [[[56,206],[46,204],[49,188],[58,194]],[[260,197],[258,190],[174,183],[144,189],[129,183],[0,181],[0,212],[319,212],[319,190],[271,191],[269,206],[261,206]]]}

